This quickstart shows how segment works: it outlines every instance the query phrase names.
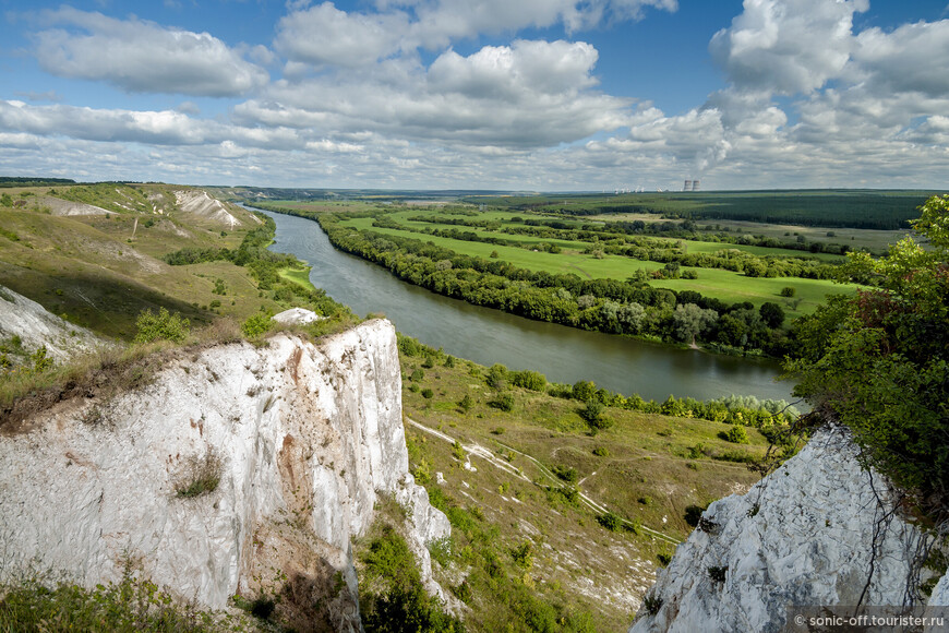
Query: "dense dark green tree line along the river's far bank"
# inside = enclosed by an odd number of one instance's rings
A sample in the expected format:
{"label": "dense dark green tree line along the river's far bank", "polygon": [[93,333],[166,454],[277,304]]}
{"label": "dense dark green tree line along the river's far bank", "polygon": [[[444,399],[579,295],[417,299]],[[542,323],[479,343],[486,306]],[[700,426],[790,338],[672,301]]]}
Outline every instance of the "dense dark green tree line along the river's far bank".
{"label": "dense dark green tree line along the river's far bank", "polygon": [[[313,217],[296,210],[293,214]],[[336,248],[381,264],[400,279],[476,306],[611,334],[686,344],[702,341],[726,353],[781,356],[790,344],[784,312],[777,303],[755,309],[750,302],[729,304],[695,291],[675,292],[635,280],[529,271],[340,224],[353,217],[357,214],[321,214],[316,219]]]}

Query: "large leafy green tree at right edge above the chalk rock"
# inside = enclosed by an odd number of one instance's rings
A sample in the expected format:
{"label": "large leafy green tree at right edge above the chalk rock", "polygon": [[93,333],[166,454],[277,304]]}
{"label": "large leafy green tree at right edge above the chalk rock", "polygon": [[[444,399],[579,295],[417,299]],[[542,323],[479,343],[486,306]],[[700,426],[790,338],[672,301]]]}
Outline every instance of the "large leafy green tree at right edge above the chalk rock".
{"label": "large leafy green tree at right edge above the chalk rock", "polygon": [[949,195],[929,199],[912,237],[887,256],[848,253],[841,279],[874,289],[837,296],[793,333],[785,366],[822,420],[845,425],[866,462],[915,494],[923,510],[949,509]]}

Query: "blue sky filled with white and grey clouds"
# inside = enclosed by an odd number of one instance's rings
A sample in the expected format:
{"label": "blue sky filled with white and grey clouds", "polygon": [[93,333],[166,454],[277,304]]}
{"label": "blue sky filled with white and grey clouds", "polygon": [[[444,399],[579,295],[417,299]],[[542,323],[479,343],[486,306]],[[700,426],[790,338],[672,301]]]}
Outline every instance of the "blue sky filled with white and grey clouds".
{"label": "blue sky filled with white and grey clouds", "polygon": [[949,187],[949,0],[0,0],[0,175]]}

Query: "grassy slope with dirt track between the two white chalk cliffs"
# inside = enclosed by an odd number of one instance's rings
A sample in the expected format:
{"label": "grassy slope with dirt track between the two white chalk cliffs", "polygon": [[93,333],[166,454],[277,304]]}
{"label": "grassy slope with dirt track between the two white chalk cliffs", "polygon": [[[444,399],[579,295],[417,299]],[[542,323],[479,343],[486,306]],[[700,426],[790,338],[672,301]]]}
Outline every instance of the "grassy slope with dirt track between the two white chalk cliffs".
{"label": "grassy slope with dirt track between the two white chalk cliffs", "polygon": [[[452,521],[433,557],[472,631],[625,630],[688,507],[758,478],[736,462],[765,454],[755,429],[734,444],[724,423],[606,407],[592,434],[582,403],[494,389],[489,368],[429,353],[401,357],[409,455]],[[509,411],[490,404],[501,394]]]}

